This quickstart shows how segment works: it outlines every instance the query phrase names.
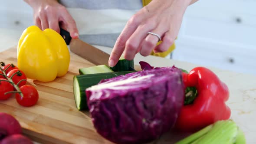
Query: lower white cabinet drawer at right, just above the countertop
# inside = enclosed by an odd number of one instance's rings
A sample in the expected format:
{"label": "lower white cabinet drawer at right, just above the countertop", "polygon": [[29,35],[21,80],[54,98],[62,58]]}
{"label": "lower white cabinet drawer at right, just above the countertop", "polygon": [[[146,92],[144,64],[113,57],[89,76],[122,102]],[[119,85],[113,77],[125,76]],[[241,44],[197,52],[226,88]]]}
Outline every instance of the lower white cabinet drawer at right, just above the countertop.
{"label": "lower white cabinet drawer at right, just above the countertop", "polygon": [[[219,69],[226,69],[234,72],[243,72],[256,75],[255,56],[246,55],[246,53],[243,52],[226,52],[228,51],[228,49],[225,49],[226,46],[216,49],[203,46],[190,46],[177,43],[177,48],[173,53],[173,59],[203,66],[213,66]],[[255,54],[256,50],[247,49],[247,52],[250,54]]]}

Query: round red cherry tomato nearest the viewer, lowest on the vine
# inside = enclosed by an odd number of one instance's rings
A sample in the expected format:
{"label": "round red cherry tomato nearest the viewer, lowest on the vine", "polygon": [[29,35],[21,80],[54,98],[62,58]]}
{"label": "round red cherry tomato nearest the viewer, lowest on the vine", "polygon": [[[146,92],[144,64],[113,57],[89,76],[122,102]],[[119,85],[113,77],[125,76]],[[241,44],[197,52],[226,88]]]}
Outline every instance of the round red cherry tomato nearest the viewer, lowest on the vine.
{"label": "round red cherry tomato nearest the viewer, lowest on the vine", "polygon": [[36,105],[38,101],[38,92],[36,88],[32,85],[23,85],[20,87],[20,91],[23,94],[23,97],[20,95],[20,93],[16,93],[16,101],[25,107],[30,107],[33,105]]}

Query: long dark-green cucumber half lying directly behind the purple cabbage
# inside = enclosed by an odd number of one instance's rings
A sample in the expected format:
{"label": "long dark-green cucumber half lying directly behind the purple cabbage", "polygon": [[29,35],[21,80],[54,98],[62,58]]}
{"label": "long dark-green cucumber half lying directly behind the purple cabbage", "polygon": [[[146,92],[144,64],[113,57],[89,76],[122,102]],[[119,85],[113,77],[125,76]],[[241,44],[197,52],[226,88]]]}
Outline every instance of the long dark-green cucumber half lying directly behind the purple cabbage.
{"label": "long dark-green cucumber half lying directly behind the purple cabbage", "polygon": [[75,96],[75,105],[79,111],[88,110],[85,89],[92,85],[97,85],[102,79],[110,79],[118,75],[125,75],[137,71],[125,72],[104,72],[87,75],[75,75],[73,78],[73,91]]}

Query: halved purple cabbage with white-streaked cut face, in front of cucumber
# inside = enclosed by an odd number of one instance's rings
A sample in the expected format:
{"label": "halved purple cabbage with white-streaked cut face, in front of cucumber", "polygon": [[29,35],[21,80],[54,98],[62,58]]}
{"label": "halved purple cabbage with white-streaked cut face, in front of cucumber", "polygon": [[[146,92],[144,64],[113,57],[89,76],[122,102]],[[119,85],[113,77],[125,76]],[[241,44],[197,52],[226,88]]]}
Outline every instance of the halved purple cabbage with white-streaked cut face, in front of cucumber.
{"label": "halved purple cabbage with white-streaked cut face, in front of cucumber", "polygon": [[184,102],[181,70],[148,69],[86,89],[95,129],[117,144],[153,141],[174,127]]}

